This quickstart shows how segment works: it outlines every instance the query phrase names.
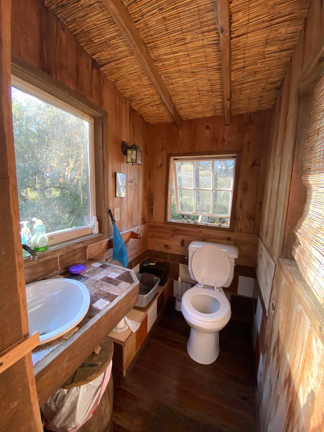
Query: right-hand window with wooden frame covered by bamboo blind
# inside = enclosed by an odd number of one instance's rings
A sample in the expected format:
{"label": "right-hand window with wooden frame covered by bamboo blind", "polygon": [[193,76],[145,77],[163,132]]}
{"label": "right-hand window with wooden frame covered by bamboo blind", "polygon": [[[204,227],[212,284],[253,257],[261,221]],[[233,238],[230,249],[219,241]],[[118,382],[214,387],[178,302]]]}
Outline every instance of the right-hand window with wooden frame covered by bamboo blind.
{"label": "right-hand window with wooden frame covered by bamboo blind", "polygon": [[321,325],[324,322],[323,55],[324,46],[311,58],[297,84],[295,155],[283,242],[283,259],[295,266],[300,298],[305,299],[312,316],[320,318]]}

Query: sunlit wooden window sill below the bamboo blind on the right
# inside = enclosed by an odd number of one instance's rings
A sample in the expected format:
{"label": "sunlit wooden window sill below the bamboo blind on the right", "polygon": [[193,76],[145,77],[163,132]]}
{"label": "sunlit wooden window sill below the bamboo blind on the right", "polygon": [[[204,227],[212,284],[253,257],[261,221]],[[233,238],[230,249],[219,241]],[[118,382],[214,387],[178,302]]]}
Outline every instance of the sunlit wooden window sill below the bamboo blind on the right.
{"label": "sunlit wooden window sill below the bamboo blind on the right", "polygon": [[324,306],[306,283],[295,260],[280,258],[278,265],[324,345]]}

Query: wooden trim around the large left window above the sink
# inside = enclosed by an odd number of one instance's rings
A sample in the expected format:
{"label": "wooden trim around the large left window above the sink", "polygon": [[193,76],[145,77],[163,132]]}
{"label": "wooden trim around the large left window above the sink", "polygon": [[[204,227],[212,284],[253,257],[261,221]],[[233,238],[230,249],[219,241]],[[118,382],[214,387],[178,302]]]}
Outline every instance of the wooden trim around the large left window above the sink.
{"label": "wooden trim around the large left window above the sink", "polygon": [[[32,84],[49,95],[54,96],[54,98],[60,99],[71,107],[76,108],[76,110],[82,111],[93,118],[95,212],[98,219],[99,233],[109,236],[109,220],[105,211],[106,207],[108,207],[109,178],[108,166],[104,163],[104,160],[108,159],[108,146],[104,142],[104,137],[108,130],[107,111],[15,54],[11,56],[11,73],[26,83]],[[83,239],[86,240],[88,237],[91,238],[91,236],[83,236],[58,243],[53,245],[53,248],[66,247],[68,244],[78,243],[80,240],[83,241]],[[24,263],[29,260],[29,257],[25,258]]]}

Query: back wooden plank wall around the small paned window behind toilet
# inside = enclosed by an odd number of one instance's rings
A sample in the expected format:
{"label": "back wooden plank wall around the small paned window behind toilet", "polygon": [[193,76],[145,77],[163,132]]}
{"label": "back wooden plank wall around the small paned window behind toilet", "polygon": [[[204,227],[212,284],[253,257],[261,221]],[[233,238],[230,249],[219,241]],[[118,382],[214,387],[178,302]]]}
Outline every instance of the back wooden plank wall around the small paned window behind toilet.
{"label": "back wooden plank wall around the small paned window behind toilet", "polygon": [[[198,237],[237,244],[240,264],[255,266],[271,111],[240,114],[225,125],[224,117],[149,125],[149,249],[187,254]],[[241,150],[235,232],[164,224],[166,155],[168,153]],[[150,224],[152,225],[152,224]],[[186,250],[186,251],[185,251]]]}

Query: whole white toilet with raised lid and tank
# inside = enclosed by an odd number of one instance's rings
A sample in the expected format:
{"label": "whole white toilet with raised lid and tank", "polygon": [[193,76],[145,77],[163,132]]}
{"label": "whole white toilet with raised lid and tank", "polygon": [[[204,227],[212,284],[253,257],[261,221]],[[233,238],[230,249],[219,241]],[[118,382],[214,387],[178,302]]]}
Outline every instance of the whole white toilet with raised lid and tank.
{"label": "whole white toilet with raised lid and tank", "polygon": [[192,241],[188,250],[189,273],[198,283],[181,301],[182,314],[191,327],[187,351],[196,362],[209,365],[219,354],[219,330],[231,318],[231,305],[222,287],[232,283],[238,248]]}

